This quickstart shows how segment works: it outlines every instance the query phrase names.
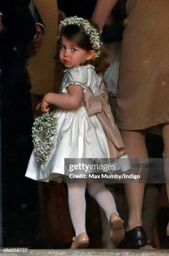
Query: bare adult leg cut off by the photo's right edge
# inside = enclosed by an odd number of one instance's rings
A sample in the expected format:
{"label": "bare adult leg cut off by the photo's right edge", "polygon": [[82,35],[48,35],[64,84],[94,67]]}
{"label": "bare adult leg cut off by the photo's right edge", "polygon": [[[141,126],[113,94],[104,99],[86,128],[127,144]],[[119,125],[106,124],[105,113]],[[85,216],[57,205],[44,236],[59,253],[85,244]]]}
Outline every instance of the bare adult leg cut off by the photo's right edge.
{"label": "bare adult leg cut off by the photo's right edge", "polygon": [[[162,135],[164,141],[164,172],[166,177],[166,191],[169,200],[169,124],[165,123],[162,128]],[[166,234],[169,236],[169,223],[166,228]]]}

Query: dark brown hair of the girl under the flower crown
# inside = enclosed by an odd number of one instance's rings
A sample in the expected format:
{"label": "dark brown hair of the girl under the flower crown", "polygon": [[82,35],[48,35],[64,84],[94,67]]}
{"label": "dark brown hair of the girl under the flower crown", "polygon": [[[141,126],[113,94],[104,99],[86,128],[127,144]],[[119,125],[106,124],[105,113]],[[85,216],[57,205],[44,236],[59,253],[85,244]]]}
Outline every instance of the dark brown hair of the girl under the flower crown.
{"label": "dark brown hair of the girl under the flower crown", "polygon": [[[65,36],[69,41],[77,44],[79,47],[85,49],[86,51],[94,50],[90,41],[90,35],[86,34],[83,26],[74,24],[63,26],[61,29],[61,36]],[[85,64],[93,65],[95,67],[96,73],[104,73],[109,66],[106,57],[106,51],[103,49],[103,47],[101,47],[100,56],[98,58],[86,61]]]}

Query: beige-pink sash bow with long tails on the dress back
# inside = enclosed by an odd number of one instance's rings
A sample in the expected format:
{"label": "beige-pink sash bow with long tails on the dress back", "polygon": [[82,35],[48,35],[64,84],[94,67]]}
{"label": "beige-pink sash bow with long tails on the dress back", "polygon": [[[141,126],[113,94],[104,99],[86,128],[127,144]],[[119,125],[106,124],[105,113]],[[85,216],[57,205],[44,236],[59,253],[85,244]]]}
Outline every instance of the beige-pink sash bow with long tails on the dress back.
{"label": "beige-pink sash bow with long tails on the dress back", "polygon": [[88,115],[96,114],[102,125],[110,151],[110,158],[122,156],[125,153],[125,147],[108,104],[108,95],[104,83],[101,84],[98,97],[95,97],[90,87],[86,86],[83,102]]}

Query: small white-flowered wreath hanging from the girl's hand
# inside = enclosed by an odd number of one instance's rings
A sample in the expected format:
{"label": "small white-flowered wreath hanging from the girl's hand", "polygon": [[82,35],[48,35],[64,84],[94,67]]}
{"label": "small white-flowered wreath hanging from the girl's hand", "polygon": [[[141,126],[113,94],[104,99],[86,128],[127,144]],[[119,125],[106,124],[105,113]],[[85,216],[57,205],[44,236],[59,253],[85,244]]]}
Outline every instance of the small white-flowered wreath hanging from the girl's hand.
{"label": "small white-flowered wreath hanging from the girl's hand", "polygon": [[[36,159],[38,162],[45,164],[48,161],[51,146],[55,143],[56,125],[58,118],[53,113],[46,113],[35,118],[32,128],[32,137]],[[40,139],[40,133],[44,132],[44,143]]]}

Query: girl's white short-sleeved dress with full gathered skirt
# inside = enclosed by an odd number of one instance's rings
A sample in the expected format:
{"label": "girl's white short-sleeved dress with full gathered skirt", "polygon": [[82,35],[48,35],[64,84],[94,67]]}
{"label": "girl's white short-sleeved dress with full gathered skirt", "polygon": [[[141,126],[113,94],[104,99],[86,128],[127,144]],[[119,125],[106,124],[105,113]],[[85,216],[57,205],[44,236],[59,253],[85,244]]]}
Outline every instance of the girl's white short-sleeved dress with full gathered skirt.
{"label": "girl's white short-sleeved dress with full gathered skirt", "polygon": [[[91,65],[78,66],[66,70],[60,93],[68,93],[69,84],[88,86],[95,96],[98,95],[102,77],[96,74]],[[50,151],[46,164],[36,160],[33,150],[25,176],[31,179],[49,182],[61,182],[64,175],[64,158],[109,158],[109,149],[105,133],[97,115],[87,114],[80,106],[74,110],[57,108],[58,118],[56,142]]]}

